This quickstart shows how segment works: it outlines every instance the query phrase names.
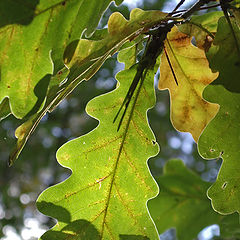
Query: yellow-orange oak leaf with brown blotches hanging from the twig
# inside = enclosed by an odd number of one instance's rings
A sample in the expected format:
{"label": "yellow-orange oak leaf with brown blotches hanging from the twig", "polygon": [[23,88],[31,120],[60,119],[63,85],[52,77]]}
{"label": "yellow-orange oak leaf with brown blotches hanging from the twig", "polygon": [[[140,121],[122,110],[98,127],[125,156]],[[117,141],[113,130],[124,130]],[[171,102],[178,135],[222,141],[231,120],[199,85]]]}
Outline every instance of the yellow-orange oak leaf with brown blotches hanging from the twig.
{"label": "yellow-orange oak leaf with brown blotches hanging from the twig", "polygon": [[204,51],[192,45],[191,37],[174,27],[167,36],[165,52],[161,57],[159,89],[170,92],[174,127],[181,132],[190,132],[196,142],[219,109],[217,104],[202,98],[204,88],[217,76],[218,73],[212,73],[209,68]]}

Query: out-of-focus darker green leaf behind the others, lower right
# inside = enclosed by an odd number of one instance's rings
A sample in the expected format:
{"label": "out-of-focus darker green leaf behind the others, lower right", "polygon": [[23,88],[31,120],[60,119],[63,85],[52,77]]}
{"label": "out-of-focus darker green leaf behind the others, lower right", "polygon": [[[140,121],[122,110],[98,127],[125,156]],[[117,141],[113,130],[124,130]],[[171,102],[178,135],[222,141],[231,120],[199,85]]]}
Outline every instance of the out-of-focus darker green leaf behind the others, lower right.
{"label": "out-of-focus darker green leaf behind the others, lower right", "polygon": [[175,227],[178,239],[192,240],[205,227],[223,218],[211,208],[206,191],[211,185],[189,170],[181,160],[166,163],[157,183],[159,195],[148,202],[159,233]]}

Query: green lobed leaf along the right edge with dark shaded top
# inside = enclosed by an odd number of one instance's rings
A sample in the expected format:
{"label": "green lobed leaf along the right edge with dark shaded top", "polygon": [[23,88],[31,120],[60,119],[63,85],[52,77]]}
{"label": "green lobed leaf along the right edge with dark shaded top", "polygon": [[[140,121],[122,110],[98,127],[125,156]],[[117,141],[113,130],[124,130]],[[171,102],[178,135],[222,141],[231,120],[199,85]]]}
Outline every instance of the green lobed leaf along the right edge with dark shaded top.
{"label": "green lobed leaf along the right edge with dark shaded top", "polygon": [[[240,30],[232,21],[240,44]],[[240,211],[240,56],[231,28],[220,18],[213,46],[207,53],[210,67],[219,77],[204,90],[204,98],[218,103],[220,110],[200,136],[198,148],[206,159],[221,157],[216,182],[208,190],[213,208],[222,214]]]}

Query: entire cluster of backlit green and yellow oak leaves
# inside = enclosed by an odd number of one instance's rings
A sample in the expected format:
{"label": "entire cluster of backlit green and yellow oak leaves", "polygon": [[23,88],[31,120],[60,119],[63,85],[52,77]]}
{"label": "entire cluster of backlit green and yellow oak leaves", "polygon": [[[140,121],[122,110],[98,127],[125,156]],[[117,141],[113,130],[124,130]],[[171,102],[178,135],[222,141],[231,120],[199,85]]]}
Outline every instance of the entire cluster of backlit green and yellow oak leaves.
{"label": "entire cluster of backlit green and yellow oak leaves", "polygon": [[[12,114],[24,120],[15,132],[10,165],[42,117],[107,58],[119,52],[118,60],[125,63],[116,76],[117,89],[87,105],[98,127],[57,152],[58,162],[72,174],[37,200],[38,209],[58,221],[41,239],[152,240],[176,227],[179,239],[190,240],[214,223],[222,237],[239,238],[237,215],[219,214],[240,210],[239,2],[228,6],[231,18],[226,11],[214,11],[184,23],[181,17],[174,19],[180,18],[179,24],[168,33],[164,52],[137,88],[119,131],[113,119],[138,72],[145,34],[173,17],[134,9],[129,20],[116,12],[107,29],[95,30],[110,2],[22,0],[12,5],[18,10],[10,11],[14,18],[1,11],[9,2],[0,3],[0,118]],[[223,159],[212,186],[180,160],[167,163],[157,184],[149,172],[147,160],[159,148],[146,112],[155,104],[153,79],[159,66],[159,89],[169,89],[175,128],[192,134],[204,158]]]}

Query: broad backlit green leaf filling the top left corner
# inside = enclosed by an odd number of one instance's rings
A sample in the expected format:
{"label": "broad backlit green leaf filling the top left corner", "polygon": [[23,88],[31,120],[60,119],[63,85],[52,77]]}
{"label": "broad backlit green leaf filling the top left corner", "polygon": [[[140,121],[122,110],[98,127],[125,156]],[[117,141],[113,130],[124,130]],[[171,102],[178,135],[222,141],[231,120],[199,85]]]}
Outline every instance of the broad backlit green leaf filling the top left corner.
{"label": "broad backlit green leaf filling the top left corner", "polygon": [[63,67],[64,49],[94,31],[110,2],[1,1],[0,101],[9,97],[17,118],[37,112],[51,74]]}

